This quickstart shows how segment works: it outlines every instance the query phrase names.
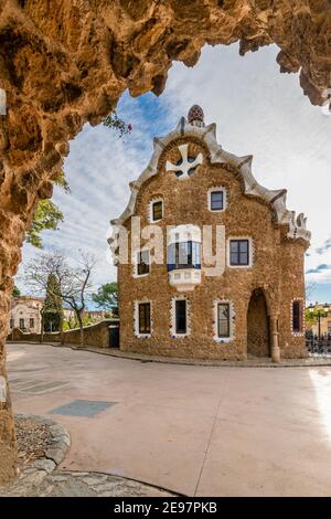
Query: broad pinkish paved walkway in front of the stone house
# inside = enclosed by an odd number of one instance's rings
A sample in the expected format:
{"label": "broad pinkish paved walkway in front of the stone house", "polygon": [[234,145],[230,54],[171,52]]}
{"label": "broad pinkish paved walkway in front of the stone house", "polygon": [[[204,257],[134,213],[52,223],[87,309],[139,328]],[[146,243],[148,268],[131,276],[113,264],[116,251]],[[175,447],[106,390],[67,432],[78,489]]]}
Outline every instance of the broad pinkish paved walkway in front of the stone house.
{"label": "broad pinkish paved walkway in front of the stone house", "polygon": [[72,436],[66,472],[189,496],[329,496],[331,368],[137,362],[9,345],[17,412]]}

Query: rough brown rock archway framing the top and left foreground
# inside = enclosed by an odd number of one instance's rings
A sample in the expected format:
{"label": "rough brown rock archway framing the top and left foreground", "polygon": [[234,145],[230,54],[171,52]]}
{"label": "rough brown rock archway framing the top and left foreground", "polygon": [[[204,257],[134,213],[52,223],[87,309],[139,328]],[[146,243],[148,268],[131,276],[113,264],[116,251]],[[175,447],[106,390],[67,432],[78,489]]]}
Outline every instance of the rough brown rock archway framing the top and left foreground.
{"label": "rough brown rock archway framing the top and left foreground", "polygon": [[[298,72],[313,104],[330,86],[328,0],[0,0],[0,480],[14,474],[4,338],[24,231],[84,123],[96,125],[125,91],[159,95],[174,60],[241,42],[275,42],[281,72]],[[194,35],[194,38],[192,38]],[[4,378],[4,379],[3,379]],[[7,386],[6,386],[7,389]]]}

